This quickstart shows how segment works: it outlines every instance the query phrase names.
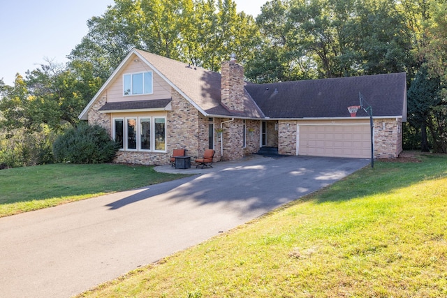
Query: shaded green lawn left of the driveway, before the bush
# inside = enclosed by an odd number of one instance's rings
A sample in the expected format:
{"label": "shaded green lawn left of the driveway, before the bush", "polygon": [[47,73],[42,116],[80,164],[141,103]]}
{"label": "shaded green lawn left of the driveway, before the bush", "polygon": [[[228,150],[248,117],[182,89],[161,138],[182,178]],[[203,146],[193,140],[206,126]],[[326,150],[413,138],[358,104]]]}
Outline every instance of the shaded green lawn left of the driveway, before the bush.
{"label": "shaded green lawn left of the driveway, before the bush", "polygon": [[150,166],[54,164],[0,171],[0,217],[185,177]]}

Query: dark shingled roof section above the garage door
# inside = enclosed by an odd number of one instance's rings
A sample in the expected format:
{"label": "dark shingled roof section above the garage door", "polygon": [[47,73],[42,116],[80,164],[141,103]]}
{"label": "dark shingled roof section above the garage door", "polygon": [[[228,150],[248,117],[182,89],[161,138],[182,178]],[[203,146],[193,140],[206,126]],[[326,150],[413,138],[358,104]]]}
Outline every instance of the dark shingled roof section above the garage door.
{"label": "dark shingled roof section above the garage door", "polygon": [[[270,118],[349,117],[347,107],[360,105],[360,93],[374,117],[406,120],[405,73],[250,84],[245,89]],[[357,116],[369,115],[359,110]]]}

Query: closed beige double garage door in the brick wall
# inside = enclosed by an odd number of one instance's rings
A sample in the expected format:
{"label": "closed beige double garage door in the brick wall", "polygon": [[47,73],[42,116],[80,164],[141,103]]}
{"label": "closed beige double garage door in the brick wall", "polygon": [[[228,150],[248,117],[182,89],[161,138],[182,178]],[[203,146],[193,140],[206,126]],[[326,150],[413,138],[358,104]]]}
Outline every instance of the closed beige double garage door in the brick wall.
{"label": "closed beige double garage door in the brick wall", "polygon": [[298,155],[371,157],[369,124],[298,125]]}

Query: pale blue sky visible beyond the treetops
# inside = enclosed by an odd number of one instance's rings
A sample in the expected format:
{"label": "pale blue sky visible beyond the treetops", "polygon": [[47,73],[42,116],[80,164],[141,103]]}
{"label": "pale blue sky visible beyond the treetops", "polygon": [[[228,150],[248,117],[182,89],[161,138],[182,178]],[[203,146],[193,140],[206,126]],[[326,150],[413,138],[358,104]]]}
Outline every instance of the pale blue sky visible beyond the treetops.
{"label": "pale blue sky visible beyond the treetops", "polygon": [[[0,79],[13,85],[45,59],[65,64],[87,32],[87,20],[102,15],[113,0],[0,0]],[[168,0],[169,1],[169,0]],[[237,11],[256,17],[268,0],[235,0]]]}

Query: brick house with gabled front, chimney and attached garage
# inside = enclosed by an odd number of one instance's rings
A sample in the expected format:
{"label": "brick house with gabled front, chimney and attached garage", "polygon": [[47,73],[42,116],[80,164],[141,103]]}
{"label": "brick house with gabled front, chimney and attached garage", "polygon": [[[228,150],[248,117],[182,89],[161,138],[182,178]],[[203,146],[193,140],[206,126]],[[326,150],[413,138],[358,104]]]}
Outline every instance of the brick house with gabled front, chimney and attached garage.
{"label": "brick house with gabled front, chimney and attached garage", "polygon": [[374,157],[396,158],[406,121],[406,75],[250,84],[244,68],[221,73],[131,50],[79,118],[121,144],[118,163],[166,164],[173,149],[237,160],[261,147],[279,154],[370,158],[369,115],[347,107],[362,95],[373,110]]}

